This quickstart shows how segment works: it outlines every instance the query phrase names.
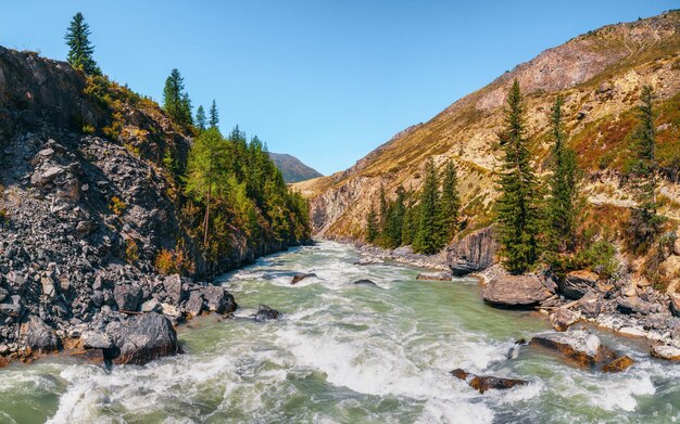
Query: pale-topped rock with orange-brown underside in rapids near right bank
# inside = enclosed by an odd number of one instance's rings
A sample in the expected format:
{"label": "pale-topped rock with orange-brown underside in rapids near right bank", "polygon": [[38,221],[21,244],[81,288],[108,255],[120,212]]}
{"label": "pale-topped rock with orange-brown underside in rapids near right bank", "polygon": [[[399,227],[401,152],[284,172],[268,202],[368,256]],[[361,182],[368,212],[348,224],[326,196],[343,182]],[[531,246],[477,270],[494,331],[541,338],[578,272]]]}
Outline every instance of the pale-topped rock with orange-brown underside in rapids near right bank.
{"label": "pale-topped rock with orange-brown underside in rapids near right bank", "polygon": [[539,333],[529,345],[556,350],[577,364],[588,367],[594,365],[604,354],[600,337],[585,330]]}

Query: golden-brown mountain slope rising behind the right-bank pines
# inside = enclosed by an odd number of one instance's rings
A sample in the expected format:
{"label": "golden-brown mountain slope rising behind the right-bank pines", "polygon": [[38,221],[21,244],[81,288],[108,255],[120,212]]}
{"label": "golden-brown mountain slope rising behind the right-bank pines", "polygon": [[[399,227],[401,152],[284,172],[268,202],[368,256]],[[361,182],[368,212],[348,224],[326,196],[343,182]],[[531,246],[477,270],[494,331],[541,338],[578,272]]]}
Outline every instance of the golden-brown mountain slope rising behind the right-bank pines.
{"label": "golden-brown mountain slope rising behind the right-bank pines", "polygon": [[380,187],[390,197],[400,185],[418,189],[428,157],[439,168],[448,159],[457,165],[466,232],[488,226],[496,197],[498,132],[514,79],[526,94],[527,136],[541,172],[550,149],[549,111],[562,93],[569,143],[588,172],[589,201],[613,208],[633,205],[622,184],[628,137],[640,89],[651,85],[657,97],[662,213],[680,219],[679,25],[680,11],[670,11],[576,37],[501,75],[429,121],[398,133],[345,171],[295,184],[311,200],[314,233],[363,240]]}

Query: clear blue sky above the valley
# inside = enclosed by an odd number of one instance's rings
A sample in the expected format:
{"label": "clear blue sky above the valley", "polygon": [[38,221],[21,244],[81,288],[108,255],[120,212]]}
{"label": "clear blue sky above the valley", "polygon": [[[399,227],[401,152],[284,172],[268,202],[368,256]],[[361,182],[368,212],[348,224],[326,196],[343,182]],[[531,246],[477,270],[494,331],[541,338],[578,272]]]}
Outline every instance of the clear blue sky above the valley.
{"label": "clear blue sky above the valley", "polygon": [[64,59],[83,12],[103,72],[161,100],[174,67],[194,106],[323,174],[546,48],[680,1],[15,0],[0,44]]}

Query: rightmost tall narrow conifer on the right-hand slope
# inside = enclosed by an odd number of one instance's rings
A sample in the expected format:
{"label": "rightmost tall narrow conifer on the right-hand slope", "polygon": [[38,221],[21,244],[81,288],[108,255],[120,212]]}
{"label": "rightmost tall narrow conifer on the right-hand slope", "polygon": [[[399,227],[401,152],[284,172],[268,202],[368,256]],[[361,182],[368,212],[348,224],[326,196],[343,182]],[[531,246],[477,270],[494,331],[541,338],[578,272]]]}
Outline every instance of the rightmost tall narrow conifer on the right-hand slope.
{"label": "rightmost tall narrow conifer on the right-hand slope", "polygon": [[638,128],[633,133],[632,180],[638,206],[632,210],[627,235],[629,248],[634,253],[644,253],[657,239],[664,223],[664,217],[657,214],[656,138],[654,126],[654,91],[644,86],[638,106]]}

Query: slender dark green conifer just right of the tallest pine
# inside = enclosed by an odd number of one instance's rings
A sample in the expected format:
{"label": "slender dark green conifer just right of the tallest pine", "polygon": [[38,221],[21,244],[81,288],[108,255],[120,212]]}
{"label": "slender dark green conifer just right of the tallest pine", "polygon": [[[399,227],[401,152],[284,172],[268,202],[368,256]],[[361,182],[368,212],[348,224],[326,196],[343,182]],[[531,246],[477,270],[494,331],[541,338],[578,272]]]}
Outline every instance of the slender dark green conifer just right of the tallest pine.
{"label": "slender dark green conifer just right of the tallest pine", "polygon": [[555,253],[571,252],[577,244],[577,224],[580,213],[580,172],[576,152],[567,147],[563,123],[564,98],[557,95],[551,113],[552,150],[550,197],[547,201],[547,247]]}

